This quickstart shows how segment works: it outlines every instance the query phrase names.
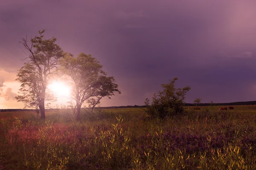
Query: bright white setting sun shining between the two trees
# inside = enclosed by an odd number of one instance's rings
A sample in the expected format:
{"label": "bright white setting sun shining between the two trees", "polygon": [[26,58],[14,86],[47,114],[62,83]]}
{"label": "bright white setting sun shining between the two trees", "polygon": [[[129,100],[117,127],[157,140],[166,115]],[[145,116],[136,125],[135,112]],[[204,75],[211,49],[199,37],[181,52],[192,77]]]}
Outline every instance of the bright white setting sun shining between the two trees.
{"label": "bright white setting sun shining between the two trees", "polygon": [[48,88],[57,97],[70,97],[71,88],[60,80],[53,81],[48,85]]}

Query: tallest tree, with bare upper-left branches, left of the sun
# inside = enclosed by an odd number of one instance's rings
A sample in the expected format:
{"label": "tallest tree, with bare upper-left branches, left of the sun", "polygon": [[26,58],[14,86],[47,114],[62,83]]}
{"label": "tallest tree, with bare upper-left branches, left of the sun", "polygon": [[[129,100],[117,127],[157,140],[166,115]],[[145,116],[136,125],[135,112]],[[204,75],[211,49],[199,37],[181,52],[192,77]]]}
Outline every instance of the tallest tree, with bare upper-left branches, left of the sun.
{"label": "tallest tree, with bare upper-left branches, left of the sun", "polygon": [[[26,95],[25,92],[29,92],[29,89],[32,88],[30,86],[33,86],[33,83],[26,83],[26,81],[32,82],[31,75],[26,74],[26,71],[23,74],[21,69],[20,72],[17,74],[17,81],[19,81],[21,84],[24,83],[24,86],[23,88],[21,88],[21,95],[18,96],[17,99],[19,102],[29,104],[29,102],[31,102],[32,99],[35,99],[36,96],[38,107],[41,113],[41,118],[43,119],[45,119],[44,104],[47,100],[46,89],[49,82],[49,77],[51,76],[55,68],[57,68],[59,59],[63,57],[62,49],[55,44],[56,40],[57,39],[54,37],[45,40],[43,30],[39,31],[39,37],[34,37],[30,40],[30,45],[27,37],[22,38],[22,42],[20,42],[29,51],[29,57],[26,58],[28,59],[28,62],[25,63],[24,67],[33,67],[33,71],[36,73],[38,88],[34,89],[34,91],[30,91],[33,93],[32,95],[34,95],[32,98],[31,96]],[[28,77],[26,78],[26,76]]]}

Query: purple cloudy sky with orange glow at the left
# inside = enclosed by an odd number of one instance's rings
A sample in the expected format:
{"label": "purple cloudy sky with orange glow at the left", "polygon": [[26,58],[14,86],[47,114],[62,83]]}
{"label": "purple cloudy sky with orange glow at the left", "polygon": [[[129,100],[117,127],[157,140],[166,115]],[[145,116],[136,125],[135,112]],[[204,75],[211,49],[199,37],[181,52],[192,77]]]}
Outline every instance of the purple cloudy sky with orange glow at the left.
{"label": "purple cloudy sky with orange glow at the left", "polygon": [[[122,94],[101,106],[144,105],[177,77],[185,102],[256,100],[255,0],[8,0],[0,6],[0,108],[23,108],[17,70],[21,38],[57,38],[91,54]],[[59,100],[61,101],[61,99]],[[65,104],[65,103],[64,103]]]}

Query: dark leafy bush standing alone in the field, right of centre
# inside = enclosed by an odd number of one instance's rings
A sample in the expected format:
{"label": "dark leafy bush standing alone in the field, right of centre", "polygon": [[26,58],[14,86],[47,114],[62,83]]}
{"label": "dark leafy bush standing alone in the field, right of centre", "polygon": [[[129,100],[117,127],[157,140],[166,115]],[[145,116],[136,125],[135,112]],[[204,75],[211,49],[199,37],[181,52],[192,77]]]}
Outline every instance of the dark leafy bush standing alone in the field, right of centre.
{"label": "dark leafy bush standing alone in the field, right of centre", "polygon": [[169,84],[162,84],[163,91],[153,95],[151,105],[149,105],[148,98],[145,100],[145,105],[147,105],[146,112],[150,116],[165,118],[183,113],[185,95],[191,88],[186,86],[176,89],[175,81],[177,79],[175,77],[173,80],[169,80]]}

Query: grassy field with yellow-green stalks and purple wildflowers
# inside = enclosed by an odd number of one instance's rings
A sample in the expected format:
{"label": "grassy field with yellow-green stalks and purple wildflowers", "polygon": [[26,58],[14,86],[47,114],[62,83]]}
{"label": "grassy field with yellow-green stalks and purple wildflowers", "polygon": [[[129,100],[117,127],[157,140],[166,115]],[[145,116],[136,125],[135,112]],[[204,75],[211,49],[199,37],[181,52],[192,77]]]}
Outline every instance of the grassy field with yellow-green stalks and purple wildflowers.
{"label": "grassy field with yellow-green stalks and purple wildflowers", "polygon": [[141,108],[0,113],[0,170],[256,169],[256,106],[166,120]]}

